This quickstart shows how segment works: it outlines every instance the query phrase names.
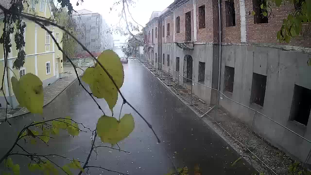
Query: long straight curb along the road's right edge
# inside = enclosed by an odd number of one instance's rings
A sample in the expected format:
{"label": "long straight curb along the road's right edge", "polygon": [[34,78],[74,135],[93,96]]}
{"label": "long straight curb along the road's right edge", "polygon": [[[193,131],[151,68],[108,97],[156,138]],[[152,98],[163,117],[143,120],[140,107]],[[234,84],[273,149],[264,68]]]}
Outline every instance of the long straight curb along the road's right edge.
{"label": "long straight curb along the road's right edge", "polygon": [[[138,60],[139,61],[139,60]],[[157,80],[160,81],[160,83],[162,83],[162,85],[167,89],[169,90],[175,97],[177,97],[181,102],[183,102],[189,109],[191,109],[196,115],[197,115],[197,118],[198,119],[201,119],[204,123],[206,123],[217,135],[220,136],[220,138],[222,138],[227,144],[229,144],[229,146],[235,151],[235,154],[240,157],[241,159],[243,159],[244,162],[247,162],[250,166],[252,166],[257,172],[258,172],[258,167],[256,166],[256,162],[251,162],[251,161],[248,161],[247,159],[245,159],[244,157],[241,156],[241,152],[239,149],[235,148],[235,146],[229,141],[227,140],[223,134],[220,134],[220,132],[216,129],[216,127],[214,125],[214,122],[213,121],[209,121],[207,120],[205,117],[201,118],[200,114],[195,111],[190,105],[188,105],[181,97],[179,97],[178,94],[176,94],[169,86],[167,86],[163,81],[160,80],[160,78],[157,78],[155,74],[153,74],[147,67],[145,64],[143,64],[141,61],[139,61],[143,67],[145,67],[147,69],[147,71],[149,73],[151,73]],[[259,173],[259,172],[258,172]]]}

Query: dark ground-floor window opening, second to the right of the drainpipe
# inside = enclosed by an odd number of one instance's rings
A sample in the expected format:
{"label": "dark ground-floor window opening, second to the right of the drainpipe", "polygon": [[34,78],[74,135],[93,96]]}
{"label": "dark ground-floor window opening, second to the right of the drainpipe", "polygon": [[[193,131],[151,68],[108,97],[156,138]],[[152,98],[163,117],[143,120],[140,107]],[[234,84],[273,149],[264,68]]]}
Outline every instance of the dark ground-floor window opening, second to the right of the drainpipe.
{"label": "dark ground-floor window opening, second to the right of the drainpipe", "polygon": [[266,93],[267,76],[253,73],[251,102],[263,106]]}

